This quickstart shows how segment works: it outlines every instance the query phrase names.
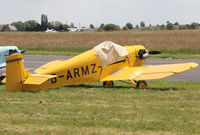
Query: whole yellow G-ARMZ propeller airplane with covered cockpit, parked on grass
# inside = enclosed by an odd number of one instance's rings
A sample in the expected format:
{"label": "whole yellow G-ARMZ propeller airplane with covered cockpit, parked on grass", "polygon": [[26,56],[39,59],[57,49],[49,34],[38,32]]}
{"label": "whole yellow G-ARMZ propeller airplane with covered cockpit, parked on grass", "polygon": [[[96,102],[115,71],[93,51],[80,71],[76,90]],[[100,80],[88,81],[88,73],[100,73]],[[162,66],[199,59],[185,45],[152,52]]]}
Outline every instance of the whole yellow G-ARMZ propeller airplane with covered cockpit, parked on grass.
{"label": "whole yellow G-ARMZ propeller airplane with covered cockpit, parked on grass", "polygon": [[144,88],[146,81],[161,79],[194,67],[196,63],[142,66],[151,52],[142,45],[120,46],[105,41],[93,49],[69,60],[56,60],[36,69],[35,74],[24,69],[22,55],[7,56],[6,91],[32,91],[59,86],[103,81],[107,87],[115,80],[130,80],[135,86]]}

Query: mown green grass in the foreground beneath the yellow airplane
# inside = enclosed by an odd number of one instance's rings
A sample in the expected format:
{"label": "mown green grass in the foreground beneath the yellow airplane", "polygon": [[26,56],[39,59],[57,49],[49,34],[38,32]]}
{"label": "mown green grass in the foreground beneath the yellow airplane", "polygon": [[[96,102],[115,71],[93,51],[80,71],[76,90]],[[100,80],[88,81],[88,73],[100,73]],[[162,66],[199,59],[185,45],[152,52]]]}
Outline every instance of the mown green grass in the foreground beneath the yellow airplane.
{"label": "mown green grass in the foreground beneath the yellow airplane", "polygon": [[149,81],[145,90],[115,82],[6,93],[0,134],[199,134],[200,83]]}

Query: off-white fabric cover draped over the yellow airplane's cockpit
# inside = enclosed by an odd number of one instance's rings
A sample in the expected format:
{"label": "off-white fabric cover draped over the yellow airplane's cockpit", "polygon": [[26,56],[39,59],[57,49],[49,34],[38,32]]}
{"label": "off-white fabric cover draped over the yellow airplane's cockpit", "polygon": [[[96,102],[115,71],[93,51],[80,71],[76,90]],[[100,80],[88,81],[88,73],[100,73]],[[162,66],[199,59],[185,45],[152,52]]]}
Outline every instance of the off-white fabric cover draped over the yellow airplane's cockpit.
{"label": "off-white fabric cover draped over the yellow airplane's cockpit", "polygon": [[110,65],[122,57],[128,56],[128,52],[124,47],[111,41],[104,41],[93,49],[97,51],[102,67]]}

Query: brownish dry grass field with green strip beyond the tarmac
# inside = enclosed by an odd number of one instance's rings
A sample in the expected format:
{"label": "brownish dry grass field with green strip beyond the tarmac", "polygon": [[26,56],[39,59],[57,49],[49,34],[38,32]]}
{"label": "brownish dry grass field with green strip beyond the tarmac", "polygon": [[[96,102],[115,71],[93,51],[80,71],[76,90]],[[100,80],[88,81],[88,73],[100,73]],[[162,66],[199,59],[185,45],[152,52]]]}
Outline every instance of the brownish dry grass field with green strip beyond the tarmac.
{"label": "brownish dry grass field with green strip beyond the tarmac", "polygon": [[27,54],[77,55],[110,40],[120,45],[144,45],[161,50],[156,57],[200,58],[200,30],[120,32],[0,32],[0,45],[25,48]]}

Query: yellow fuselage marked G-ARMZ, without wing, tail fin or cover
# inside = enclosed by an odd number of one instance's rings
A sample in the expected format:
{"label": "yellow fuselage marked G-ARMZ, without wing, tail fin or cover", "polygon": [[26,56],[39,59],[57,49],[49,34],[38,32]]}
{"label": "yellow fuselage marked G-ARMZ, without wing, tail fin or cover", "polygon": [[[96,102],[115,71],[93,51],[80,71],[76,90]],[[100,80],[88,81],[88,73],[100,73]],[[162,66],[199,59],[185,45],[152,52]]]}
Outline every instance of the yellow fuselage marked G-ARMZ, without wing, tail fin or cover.
{"label": "yellow fuselage marked G-ARMZ, without wing, tail fin or cover", "polygon": [[45,89],[95,82],[124,67],[141,66],[145,62],[145,59],[136,57],[139,49],[144,49],[143,46],[126,46],[125,48],[129,53],[128,57],[124,57],[105,67],[101,66],[100,58],[93,49],[66,61],[55,61],[46,64],[36,70],[36,73],[42,75],[57,75],[57,77],[46,81],[40,87],[24,84],[24,89],[35,90],[37,88]]}

